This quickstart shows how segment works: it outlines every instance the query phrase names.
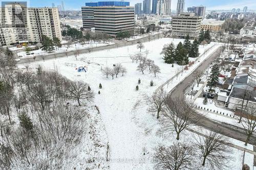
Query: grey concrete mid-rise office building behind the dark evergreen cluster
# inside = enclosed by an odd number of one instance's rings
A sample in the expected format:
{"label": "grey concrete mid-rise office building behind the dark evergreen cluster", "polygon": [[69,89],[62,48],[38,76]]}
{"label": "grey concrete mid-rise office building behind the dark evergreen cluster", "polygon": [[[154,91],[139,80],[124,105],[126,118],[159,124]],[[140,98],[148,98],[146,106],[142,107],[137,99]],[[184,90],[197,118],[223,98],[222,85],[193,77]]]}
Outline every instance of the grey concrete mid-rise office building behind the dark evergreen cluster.
{"label": "grey concrete mid-rise office building behind the dark evergreen cluster", "polygon": [[198,37],[200,32],[202,16],[195,16],[194,13],[182,13],[173,17],[173,37],[184,38],[187,35],[191,38]]}

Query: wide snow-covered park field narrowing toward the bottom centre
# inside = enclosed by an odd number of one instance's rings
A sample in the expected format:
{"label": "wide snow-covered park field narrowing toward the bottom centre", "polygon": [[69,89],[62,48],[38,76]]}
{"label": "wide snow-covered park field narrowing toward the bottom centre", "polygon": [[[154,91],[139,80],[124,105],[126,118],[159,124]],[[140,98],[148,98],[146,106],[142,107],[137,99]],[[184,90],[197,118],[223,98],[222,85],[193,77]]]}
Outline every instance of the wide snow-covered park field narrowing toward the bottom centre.
{"label": "wide snow-covered park field narrowing toward the bottom centre", "polygon": [[[97,93],[94,103],[99,107],[106,136],[109,140],[110,169],[155,169],[152,160],[155,147],[158,144],[169,145],[177,140],[175,134],[159,133],[161,126],[156,119],[156,115],[147,112],[147,104],[144,98],[145,94],[152,95],[160,85],[174,77],[176,72],[182,69],[182,66],[176,64],[174,64],[174,67],[171,64],[165,64],[160,55],[164,44],[172,41],[178,44],[183,40],[163,38],[144,43],[145,48],[142,53],[148,50],[147,58],[154,60],[155,64],[161,68],[161,74],[158,74],[156,78],[148,70],[145,71],[144,75],[136,70],[138,64],[136,64],[136,61],[133,63],[130,56],[140,53],[140,50],[136,47],[137,44],[83,54],[78,57],[77,61],[74,56],[69,56],[68,58],[36,62],[31,67],[35,68],[40,64],[45,69],[57,68],[60,74],[71,80],[82,80],[89,83],[91,89]],[[213,45],[214,43],[204,47],[200,45],[199,52],[202,54]],[[217,47],[218,45],[212,48],[211,52],[216,50]],[[203,62],[203,59],[199,61]],[[86,66],[88,71],[77,72],[75,67],[65,66],[67,65],[65,63],[76,64],[77,67]],[[118,78],[114,78],[114,80],[112,80],[112,77],[106,78],[102,75],[101,68],[106,65],[113,67],[115,63],[121,63],[127,69],[127,74],[124,76],[118,75]],[[198,64],[199,62],[194,67]],[[169,85],[166,89],[172,89],[194,67],[184,71],[183,76],[180,76],[177,80],[174,79],[172,85]],[[140,85],[138,85],[138,79],[141,80]],[[153,87],[150,86],[151,80],[154,82]],[[102,89],[99,89],[99,83],[102,84]],[[135,90],[136,85],[139,86],[138,91]],[[98,94],[99,90],[100,94]],[[180,140],[189,142],[192,138],[191,135],[190,132],[185,131],[181,134]],[[233,151],[234,160],[230,161],[231,169],[240,169],[243,152],[236,149]],[[102,155],[96,154],[94,157],[98,157],[98,161],[100,161]],[[206,170],[208,168],[201,169]]]}

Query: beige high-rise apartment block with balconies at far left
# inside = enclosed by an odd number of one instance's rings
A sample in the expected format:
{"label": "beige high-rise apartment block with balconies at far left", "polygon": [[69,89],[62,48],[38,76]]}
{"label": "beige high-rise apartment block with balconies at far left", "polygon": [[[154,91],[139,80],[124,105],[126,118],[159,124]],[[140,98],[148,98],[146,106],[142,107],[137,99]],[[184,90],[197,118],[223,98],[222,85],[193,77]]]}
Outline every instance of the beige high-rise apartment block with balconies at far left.
{"label": "beige high-rise apartment block with balconies at far left", "polygon": [[[22,11],[20,11],[22,9]],[[20,13],[16,13],[20,11]],[[31,8],[10,2],[0,8],[0,46],[42,41],[42,35],[62,41],[57,8]],[[15,17],[17,16],[18,17]]]}

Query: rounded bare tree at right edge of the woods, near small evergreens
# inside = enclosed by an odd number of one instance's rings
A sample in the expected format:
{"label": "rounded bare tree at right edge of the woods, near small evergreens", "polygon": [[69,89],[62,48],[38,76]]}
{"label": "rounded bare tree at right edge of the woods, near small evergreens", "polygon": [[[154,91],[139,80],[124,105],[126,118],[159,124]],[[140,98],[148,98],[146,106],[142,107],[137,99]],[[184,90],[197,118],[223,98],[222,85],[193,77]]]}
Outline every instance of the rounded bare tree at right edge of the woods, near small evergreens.
{"label": "rounded bare tree at right edge of the woods, near small evergreens", "polygon": [[71,82],[67,96],[69,99],[77,101],[79,106],[84,101],[92,102],[94,99],[94,93],[88,91],[88,84],[82,81]]}

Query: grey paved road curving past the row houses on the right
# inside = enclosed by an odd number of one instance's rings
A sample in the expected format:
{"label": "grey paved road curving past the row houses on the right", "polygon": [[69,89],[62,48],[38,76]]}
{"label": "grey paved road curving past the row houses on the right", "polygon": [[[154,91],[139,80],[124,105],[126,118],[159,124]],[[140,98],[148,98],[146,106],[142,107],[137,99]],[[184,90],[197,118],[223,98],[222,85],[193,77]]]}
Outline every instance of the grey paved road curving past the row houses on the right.
{"label": "grey paved road curving past the row houses on the right", "polygon": [[[207,60],[202,62],[202,64],[195,71],[206,70],[208,65],[218,57],[218,54],[220,53],[220,51],[221,51],[221,47],[219,47],[218,50],[215,53],[213,53]],[[185,78],[172,90],[172,93],[170,93],[170,95],[168,96],[168,100],[175,99],[175,98],[184,99],[185,90],[188,87],[190,87],[194,83],[194,81],[195,79],[193,77],[193,72],[192,72],[187,78]],[[220,133],[222,135],[225,135],[234,139],[238,139],[241,141],[246,140],[246,134],[242,128],[237,128],[229,124],[214,122],[213,120],[201,115],[200,113],[195,112],[195,116],[200,118],[200,120],[196,123],[198,126],[201,126],[211,131],[215,131],[217,133]],[[255,136],[252,137],[249,143],[253,145],[256,144]]]}

